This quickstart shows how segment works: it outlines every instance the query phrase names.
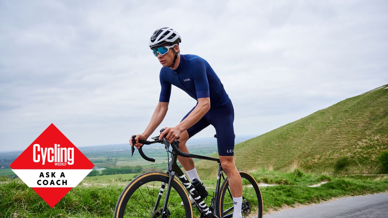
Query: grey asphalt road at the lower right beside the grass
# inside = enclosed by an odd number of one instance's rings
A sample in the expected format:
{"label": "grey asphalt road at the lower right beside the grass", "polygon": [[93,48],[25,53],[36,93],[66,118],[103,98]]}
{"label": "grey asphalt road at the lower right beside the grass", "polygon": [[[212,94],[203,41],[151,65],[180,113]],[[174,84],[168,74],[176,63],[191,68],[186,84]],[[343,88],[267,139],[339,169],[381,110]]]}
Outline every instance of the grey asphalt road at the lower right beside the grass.
{"label": "grey asphalt road at the lower right beside the grass", "polygon": [[264,218],[387,218],[388,193],[347,197],[305,208],[286,209]]}

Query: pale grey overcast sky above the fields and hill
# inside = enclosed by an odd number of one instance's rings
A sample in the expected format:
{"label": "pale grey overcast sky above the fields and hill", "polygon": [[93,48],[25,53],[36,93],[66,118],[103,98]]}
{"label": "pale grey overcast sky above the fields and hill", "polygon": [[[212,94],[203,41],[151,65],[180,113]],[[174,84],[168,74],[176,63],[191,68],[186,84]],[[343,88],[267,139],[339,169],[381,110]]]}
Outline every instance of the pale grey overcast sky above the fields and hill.
{"label": "pale grey overcast sky above the fields and hill", "polygon": [[[214,3],[212,3],[214,2]],[[388,2],[0,1],[0,152],[54,123],[77,147],[127,143],[159,99],[148,47],[175,28],[261,135],[388,83]],[[164,126],[196,104],[173,87]],[[209,126],[195,137],[215,133]]]}

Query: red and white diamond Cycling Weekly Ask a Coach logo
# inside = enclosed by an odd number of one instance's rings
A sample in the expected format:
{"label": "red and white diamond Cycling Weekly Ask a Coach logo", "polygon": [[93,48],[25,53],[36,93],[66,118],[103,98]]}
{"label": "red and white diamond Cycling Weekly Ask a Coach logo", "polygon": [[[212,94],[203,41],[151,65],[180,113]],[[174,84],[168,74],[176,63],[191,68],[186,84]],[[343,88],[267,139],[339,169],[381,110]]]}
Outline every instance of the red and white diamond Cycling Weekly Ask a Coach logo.
{"label": "red and white diamond Cycling Weekly Ask a Coach logo", "polygon": [[92,171],[94,164],[51,124],[10,167],[54,207]]}

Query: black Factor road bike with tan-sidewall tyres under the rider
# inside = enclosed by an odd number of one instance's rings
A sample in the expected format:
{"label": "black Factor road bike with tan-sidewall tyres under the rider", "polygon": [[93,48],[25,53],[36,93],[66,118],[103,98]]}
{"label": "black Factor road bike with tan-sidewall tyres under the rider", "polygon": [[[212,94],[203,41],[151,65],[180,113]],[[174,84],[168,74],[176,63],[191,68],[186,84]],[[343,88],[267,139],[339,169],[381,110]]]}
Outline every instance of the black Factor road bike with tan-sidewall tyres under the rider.
{"label": "black Factor road bike with tan-sidewall tyres under the rider", "polygon": [[[164,129],[160,130],[160,132],[162,131]],[[194,215],[199,218],[231,218],[234,204],[230,192],[229,179],[227,176],[224,176],[220,159],[182,152],[178,149],[179,138],[170,144],[165,138],[166,135],[161,140],[157,136],[152,137],[154,141],[139,140],[139,143],[143,145],[164,144],[166,152],[170,153],[168,170],[165,173],[158,171],[147,172],[133,179],[125,187],[117,201],[114,218],[194,218]],[[135,136],[132,137],[132,142],[134,138]],[[138,150],[140,156],[145,160],[155,162],[155,159],[144,154],[142,147]],[[133,146],[132,155],[134,151],[135,147]],[[213,187],[205,187],[203,183],[196,179],[192,182],[187,180],[177,164],[178,155],[216,161],[218,163],[217,182],[212,195],[208,193],[208,190],[213,189]],[[239,173],[243,186],[242,216],[244,218],[262,218],[263,199],[255,178],[244,170],[239,170]],[[192,204],[187,193],[194,199],[194,205],[198,209],[199,214],[197,212],[193,214]],[[210,201],[208,201],[208,197],[210,197]],[[210,205],[208,206],[208,204]]]}

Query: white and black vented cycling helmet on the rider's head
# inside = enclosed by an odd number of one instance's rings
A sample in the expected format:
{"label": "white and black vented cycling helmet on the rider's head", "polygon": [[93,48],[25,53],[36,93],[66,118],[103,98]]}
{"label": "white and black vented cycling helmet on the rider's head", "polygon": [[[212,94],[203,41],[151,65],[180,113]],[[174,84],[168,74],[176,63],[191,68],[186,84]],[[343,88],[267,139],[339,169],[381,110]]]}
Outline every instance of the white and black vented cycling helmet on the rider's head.
{"label": "white and black vented cycling helmet on the rider's head", "polygon": [[173,45],[180,42],[182,42],[182,38],[177,31],[173,28],[163,27],[154,31],[148,45],[153,49],[166,43]]}

